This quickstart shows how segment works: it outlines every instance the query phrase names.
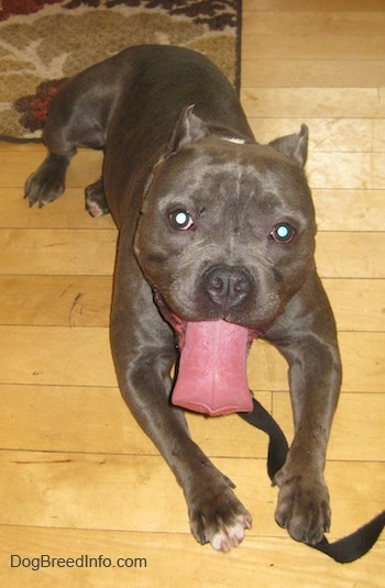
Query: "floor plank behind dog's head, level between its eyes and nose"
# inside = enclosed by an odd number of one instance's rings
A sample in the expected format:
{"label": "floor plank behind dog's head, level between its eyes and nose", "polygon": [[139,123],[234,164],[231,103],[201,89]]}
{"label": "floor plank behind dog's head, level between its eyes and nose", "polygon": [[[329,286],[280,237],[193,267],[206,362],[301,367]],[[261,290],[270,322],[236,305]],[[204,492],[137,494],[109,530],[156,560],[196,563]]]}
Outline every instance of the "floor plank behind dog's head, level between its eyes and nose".
{"label": "floor plank behind dog's head, level between its eyes and nose", "polygon": [[[97,235],[94,238],[92,231],[85,229],[3,229],[0,274],[111,276],[117,232],[106,229]],[[384,256],[385,233],[320,232],[317,236],[316,260],[322,278],[383,278]]]}

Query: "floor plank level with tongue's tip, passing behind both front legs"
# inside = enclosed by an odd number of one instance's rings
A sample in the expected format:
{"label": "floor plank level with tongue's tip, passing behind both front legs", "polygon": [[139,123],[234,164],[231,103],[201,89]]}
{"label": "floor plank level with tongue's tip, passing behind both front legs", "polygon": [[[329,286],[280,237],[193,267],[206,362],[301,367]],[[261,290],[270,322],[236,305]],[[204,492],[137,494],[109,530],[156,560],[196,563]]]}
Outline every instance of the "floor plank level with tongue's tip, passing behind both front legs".
{"label": "floor plank level with tongue's tip, passing behind both front legs", "polygon": [[[256,399],[293,437],[287,391],[255,392]],[[158,455],[135,423],[118,388],[1,385],[0,447],[45,452]],[[272,403],[273,401],[273,403]],[[385,461],[383,393],[343,392],[328,451],[329,459]],[[99,410],[98,407],[102,407]],[[193,439],[209,456],[266,458],[264,434],[238,415],[205,419],[188,414]],[[242,440],[242,443],[239,443]]]}

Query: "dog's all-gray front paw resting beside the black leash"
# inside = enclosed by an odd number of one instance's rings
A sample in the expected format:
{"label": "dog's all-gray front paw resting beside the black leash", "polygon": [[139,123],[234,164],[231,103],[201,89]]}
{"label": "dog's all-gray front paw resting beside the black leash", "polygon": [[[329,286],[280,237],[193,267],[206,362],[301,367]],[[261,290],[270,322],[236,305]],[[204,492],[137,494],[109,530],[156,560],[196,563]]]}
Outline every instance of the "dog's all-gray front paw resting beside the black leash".
{"label": "dog's all-gray front paw resting beside the black leash", "polygon": [[275,477],[279,486],[275,520],[296,541],[316,545],[330,528],[329,492],[322,477],[285,474]]}

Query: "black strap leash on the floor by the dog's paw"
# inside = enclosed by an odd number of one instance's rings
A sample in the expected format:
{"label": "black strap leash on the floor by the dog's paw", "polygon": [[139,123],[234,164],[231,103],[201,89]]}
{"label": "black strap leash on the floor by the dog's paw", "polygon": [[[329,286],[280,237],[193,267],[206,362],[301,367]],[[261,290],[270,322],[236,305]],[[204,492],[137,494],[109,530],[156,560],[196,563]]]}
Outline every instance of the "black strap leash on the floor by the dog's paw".
{"label": "black strap leash on the floor by the dog's paw", "polygon": [[[268,435],[267,474],[273,481],[275,474],[285,464],[288,452],[288,443],[282,429],[270,412],[267,412],[267,410],[265,410],[254,398],[252,412],[239,412],[238,414],[249,424],[261,429]],[[385,510],[372,519],[372,521],[354,531],[351,535],[340,539],[334,543],[329,543],[323,535],[320,543],[309,546],[329,555],[329,557],[340,564],[348,564],[359,559],[373,547],[381,535],[384,525]]]}

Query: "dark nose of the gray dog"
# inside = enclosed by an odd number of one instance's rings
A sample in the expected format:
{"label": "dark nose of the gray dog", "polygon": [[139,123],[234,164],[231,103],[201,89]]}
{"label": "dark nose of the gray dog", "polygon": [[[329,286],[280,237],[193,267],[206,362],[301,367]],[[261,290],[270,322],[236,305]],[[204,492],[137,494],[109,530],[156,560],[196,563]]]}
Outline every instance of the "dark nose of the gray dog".
{"label": "dark nose of the gray dog", "polygon": [[206,274],[206,290],[219,307],[232,308],[241,304],[251,292],[251,276],[240,267],[216,266]]}

